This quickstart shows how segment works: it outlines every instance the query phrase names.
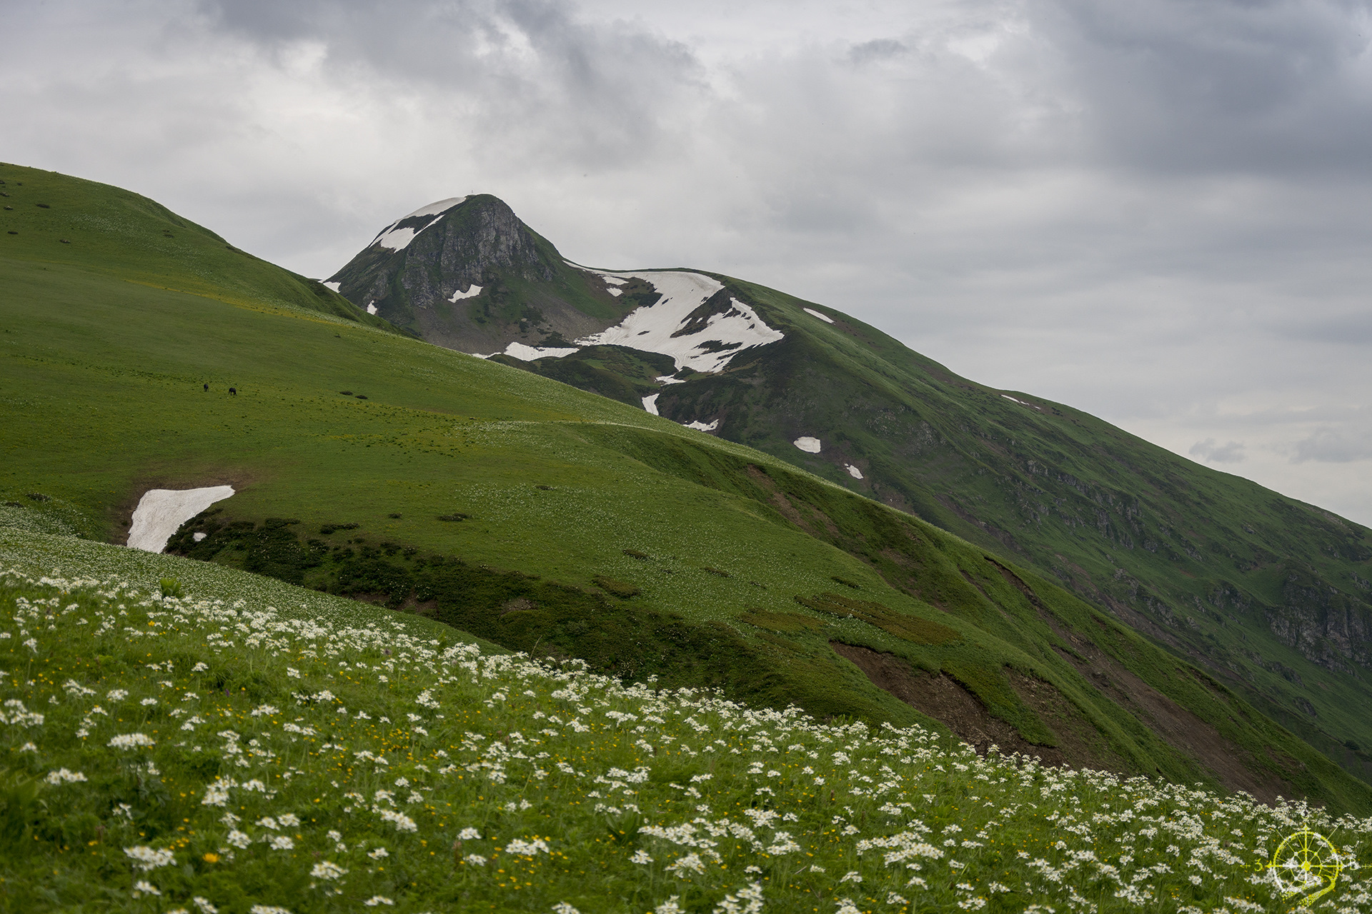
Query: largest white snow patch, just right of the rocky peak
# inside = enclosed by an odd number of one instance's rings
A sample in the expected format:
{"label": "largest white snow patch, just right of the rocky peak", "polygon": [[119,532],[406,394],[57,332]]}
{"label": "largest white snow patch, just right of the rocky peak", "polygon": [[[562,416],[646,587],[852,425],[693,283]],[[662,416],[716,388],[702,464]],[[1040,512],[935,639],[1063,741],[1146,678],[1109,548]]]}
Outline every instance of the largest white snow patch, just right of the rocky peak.
{"label": "largest white snow patch, just right of the rocky peak", "polygon": [[[584,269],[584,267],[580,267]],[[693,312],[723,291],[718,281],[700,273],[681,270],[606,273],[587,270],[606,282],[642,280],[661,296],[654,304],[632,310],[617,325],[576,340],[578,345],[623,345],[645,352],[670,355],[676,370],[720,371],[742,352],[785,338],[767,326],[757,314],[740,301],[708,315]]]}

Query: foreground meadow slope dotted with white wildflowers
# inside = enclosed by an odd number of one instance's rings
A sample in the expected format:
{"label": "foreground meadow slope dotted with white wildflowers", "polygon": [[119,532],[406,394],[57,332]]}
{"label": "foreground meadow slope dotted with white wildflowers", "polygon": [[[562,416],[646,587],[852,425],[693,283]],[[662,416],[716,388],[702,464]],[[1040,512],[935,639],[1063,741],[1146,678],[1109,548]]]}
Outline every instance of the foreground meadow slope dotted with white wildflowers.
{"label": "foreground meadow slope dotted with white wildflowers", "polygon": [[[0,533],[5,910],[1369,900],[1372,819],[626,685],[196,565]],[[1327,872],[1284,850],[1302,826]]]}

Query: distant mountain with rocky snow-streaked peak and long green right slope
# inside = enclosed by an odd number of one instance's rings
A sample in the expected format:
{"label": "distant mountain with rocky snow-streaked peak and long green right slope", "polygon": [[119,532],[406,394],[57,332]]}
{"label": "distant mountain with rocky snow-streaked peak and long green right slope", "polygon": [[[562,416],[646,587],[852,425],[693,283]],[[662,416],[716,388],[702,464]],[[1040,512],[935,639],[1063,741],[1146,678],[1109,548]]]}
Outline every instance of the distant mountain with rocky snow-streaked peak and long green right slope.
{"label": "distant mountain with rocky snow-streaked peak and long green right slope", "polygon": [[358,254],[340,291],[1010,556],[1372,780],[1365,528],[958,377],[833,308],[709,271],[582,269],[495,197],[446,204]]}

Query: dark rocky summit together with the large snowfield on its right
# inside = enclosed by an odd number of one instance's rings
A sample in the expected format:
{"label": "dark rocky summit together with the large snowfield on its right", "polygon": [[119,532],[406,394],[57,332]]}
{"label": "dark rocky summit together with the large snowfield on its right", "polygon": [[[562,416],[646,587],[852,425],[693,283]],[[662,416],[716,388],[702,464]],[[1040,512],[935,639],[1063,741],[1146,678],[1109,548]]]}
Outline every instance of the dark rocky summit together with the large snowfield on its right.
{"label": "dark rocky summit together with the large snowfield on its right", "polygon": [[664,371],[649,373],[657,384],[718,373],[783,337],[709,275],[573,264],[488,195],[397,219],[331,284],[429,343],[483,358],[561,359],[600,347],[667,356],[641,366]]}

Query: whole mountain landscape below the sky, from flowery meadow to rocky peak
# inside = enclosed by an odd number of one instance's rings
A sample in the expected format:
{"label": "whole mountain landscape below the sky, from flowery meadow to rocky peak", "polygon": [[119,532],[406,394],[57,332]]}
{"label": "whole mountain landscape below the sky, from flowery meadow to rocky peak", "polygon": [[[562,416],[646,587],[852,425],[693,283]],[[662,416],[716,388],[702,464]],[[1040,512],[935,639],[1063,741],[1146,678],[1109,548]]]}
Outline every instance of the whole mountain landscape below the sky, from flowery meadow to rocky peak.
{"label": "whole mountain landscape below the sky, from flowery meadow to rocky peak", "polygon": [[1358,525],[484,195],[0,190],[4,910],[1368,909]]}

